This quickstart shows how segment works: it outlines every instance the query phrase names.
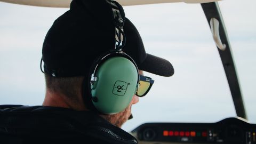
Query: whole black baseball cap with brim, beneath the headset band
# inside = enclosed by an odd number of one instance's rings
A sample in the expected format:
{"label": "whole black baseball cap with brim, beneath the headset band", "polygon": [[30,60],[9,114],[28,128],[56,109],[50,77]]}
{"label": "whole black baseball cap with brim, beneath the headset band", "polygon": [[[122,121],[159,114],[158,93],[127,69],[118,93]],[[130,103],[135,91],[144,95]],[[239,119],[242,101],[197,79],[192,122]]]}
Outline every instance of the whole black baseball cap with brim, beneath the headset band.
{"label": "whole black baseball cap with brim, beneath the headset band", "polygon": [[[115,48],[113,12],[105,0],[73,0],[70,10],[54,21],[43,43],[46,74],[55,77],[87,76],[94,61]],[[161,76],[174,74],[171,63],[145,52],[138,30],[125,19],[123,51],[140,70]]]}

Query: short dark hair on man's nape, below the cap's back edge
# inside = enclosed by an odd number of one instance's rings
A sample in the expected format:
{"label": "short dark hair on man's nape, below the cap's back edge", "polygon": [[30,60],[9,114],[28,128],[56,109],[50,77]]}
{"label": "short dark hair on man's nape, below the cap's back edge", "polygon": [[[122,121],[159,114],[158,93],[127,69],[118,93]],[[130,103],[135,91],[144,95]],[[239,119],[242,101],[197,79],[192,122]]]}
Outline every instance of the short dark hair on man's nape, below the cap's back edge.
{"label": "short dark hair on man's nape, below the cap's back edge", "polygon": [[45,74],[46,89],[50,92],[59,92],[72,101],[77,100],[77,95],[82,93],[84,76],[53,77]]}

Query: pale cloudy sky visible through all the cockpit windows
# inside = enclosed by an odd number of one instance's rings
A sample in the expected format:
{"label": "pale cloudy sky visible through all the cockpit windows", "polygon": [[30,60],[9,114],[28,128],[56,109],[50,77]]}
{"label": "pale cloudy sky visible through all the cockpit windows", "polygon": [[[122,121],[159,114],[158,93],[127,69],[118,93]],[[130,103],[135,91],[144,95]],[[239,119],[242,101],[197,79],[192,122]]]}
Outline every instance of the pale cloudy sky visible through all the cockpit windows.
{"label": "pale cloudy sky visible through all the cockpit windows", "polygon": [[[245,109],[256,123],[256,2],[219,2],[231,43]],[[42,105],[44,77],[39,69],[42,44],[53,21],[68,9],[0,2],[0,105]],[[147,122],[218,122],[235,117],[225,71],[199,4],[125,6],[147,53],[169,60],[172,77],[145,73],[155,80],[132,107],[131,131]]]}

